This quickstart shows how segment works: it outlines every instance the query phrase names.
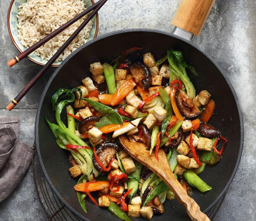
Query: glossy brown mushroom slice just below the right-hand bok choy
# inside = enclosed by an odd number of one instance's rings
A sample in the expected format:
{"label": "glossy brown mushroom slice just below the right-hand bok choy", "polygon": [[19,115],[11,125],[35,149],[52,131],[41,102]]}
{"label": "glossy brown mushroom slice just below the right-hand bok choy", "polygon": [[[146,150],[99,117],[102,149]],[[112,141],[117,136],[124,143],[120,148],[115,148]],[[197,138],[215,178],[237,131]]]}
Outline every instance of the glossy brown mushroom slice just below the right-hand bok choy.
{"label": "glossy brown mushroom slice just below the right-hand bok choy", "polygon": [[175,93],[175,100],[179,110],[186,119],[193,120],[201,115],[195,103],[180,89]]}

